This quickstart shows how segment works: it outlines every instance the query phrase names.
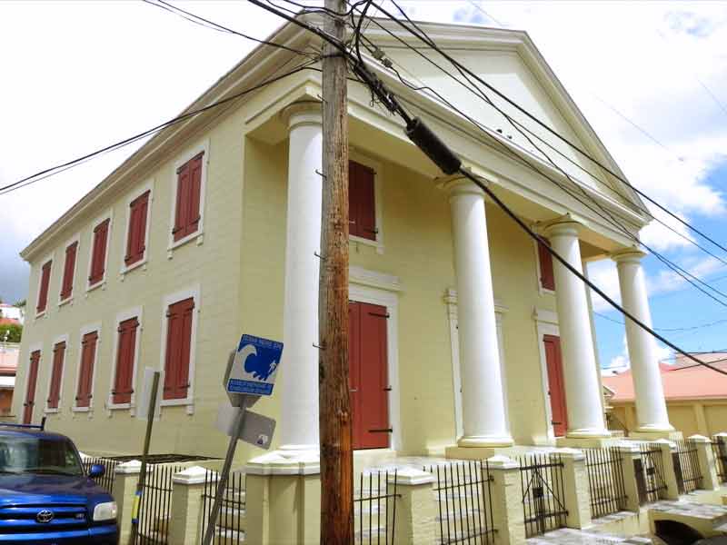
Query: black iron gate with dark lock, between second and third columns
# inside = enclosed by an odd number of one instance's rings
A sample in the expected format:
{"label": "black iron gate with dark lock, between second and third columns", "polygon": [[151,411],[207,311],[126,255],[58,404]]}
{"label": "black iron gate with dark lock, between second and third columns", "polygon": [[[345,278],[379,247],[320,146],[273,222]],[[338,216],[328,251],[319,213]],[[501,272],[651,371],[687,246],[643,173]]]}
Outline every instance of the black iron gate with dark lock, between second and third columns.
{"label": "black iron gate with dark lock, between second and third columns", "polygon": [[558,454],[532,454],[520,459],[523,487],[525,537],[541,535],[563,528],[568,516],[565,509],[563,460]]}

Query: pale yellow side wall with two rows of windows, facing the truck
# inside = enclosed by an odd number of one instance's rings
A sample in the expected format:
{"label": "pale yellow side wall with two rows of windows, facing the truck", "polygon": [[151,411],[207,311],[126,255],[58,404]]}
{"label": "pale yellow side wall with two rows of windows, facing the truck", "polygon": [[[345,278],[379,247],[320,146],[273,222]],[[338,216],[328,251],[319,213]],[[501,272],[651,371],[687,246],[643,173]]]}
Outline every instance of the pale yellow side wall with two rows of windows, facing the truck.
{"label": "pale yellow side wall with two rows of windows, facing the truck", "polygon": [[[194,414],[186,407],[164,408],[163,420],[155,426],[152,450],[155,452],[195,452],[219,455],[224,452],[224,437],[214,431],[217,403],[222,393],[222,373],[226,354],[234,347],[239,334],[239,233],[241,230],[243,138],[239,127],[243,112],[237,112],[216,124],[214,128],[191,137],[184,146],[164,157],[154,172],[99,203],[89,213],[67,225],[56,239],[54,265],[48,296],[46,317],[34,320],[37,297],[38,269],[43,257],[51,250],[41,251],[31,263],[28,307],[25,322],[17,383],[23,395],[15,396],[15,413],[21,414],[25,401],[25,377],[28,349],[36,342],[43,346],[38,374],[35,420],[40,420],[47,397],[52,343],[61,334],[69,335],[66,352],[62,410],[48,415],[47,427],[69,434],[84,451],[139,452],[144,436],[144,424],[132,418],[130,411],[106,411],[105,401],[111,385],[112,353],[116,314],[124,309],[142,306],[143,326],[139,368],[159,367],[161,335],[164,321],[165,295],[200,285],[201,312],[198,314]],[[171,202],[174,183],[174,162],[194,146],[209,139],[209,163],[204,203],[204,242],[184,244],[167,256],[171,230]],[[134,186],[154,179],[151,203],[150,237],[147,242],[149,261],[144,269],[129,272],[120,278],[125,253],[126,195]],[[95,218],[109,206],[114,219],[108,243],[105,289],[86,295],[85,279],[89,259],[89,244]],[[81,233],[78,263],[75,274],[74,301],[58,307],[58,293],[63,270],[65,242],[74,233]],[[79,357],[79,330],[85,324],[102,322],[98,362],[93,391],[94,411],[72,412],[75,380]],[[142,387],[143,371],[137,373],[134,389]],[[113,426],[113,427],[112,427]]]}

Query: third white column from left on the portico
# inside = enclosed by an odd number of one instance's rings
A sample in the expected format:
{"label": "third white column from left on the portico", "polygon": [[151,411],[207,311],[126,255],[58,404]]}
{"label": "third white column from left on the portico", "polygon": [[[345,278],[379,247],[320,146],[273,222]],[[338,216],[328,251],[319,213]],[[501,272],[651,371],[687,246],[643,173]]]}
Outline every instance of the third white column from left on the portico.
{"label": "third white column from left on the portico", "polygon": [[[578,223],[565,220],[547,229],[553,250],[576,271],[583,272]],[[593,334],[586,285],[553,258],[555,301],[563,353],[565,401],[568,407],[567,437],[608,437],[601,406],[601,382],[596,369]]]}

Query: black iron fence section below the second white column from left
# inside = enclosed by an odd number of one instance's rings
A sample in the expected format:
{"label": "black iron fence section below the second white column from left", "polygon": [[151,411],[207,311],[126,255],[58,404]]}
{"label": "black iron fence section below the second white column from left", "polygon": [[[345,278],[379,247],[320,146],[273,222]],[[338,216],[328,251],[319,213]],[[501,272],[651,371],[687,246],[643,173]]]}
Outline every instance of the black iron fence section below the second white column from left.
{"label": "black iron fence section below the second white column from left", "polygon": [[493,496],[486,461],[462,461],[425,467],[436,478],[438,543],[494,542]]}

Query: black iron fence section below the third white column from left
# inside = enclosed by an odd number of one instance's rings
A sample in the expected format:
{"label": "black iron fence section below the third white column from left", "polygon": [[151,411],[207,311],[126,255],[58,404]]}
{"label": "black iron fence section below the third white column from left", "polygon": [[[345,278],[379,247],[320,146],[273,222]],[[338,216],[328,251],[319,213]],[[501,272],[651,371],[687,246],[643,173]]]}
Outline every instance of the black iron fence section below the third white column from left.
{"label": "black iron fence section below the third white column from left", "polygon": [[586,449],[584,452],[593,519],[626,509],[621,451],[612,448]]}

